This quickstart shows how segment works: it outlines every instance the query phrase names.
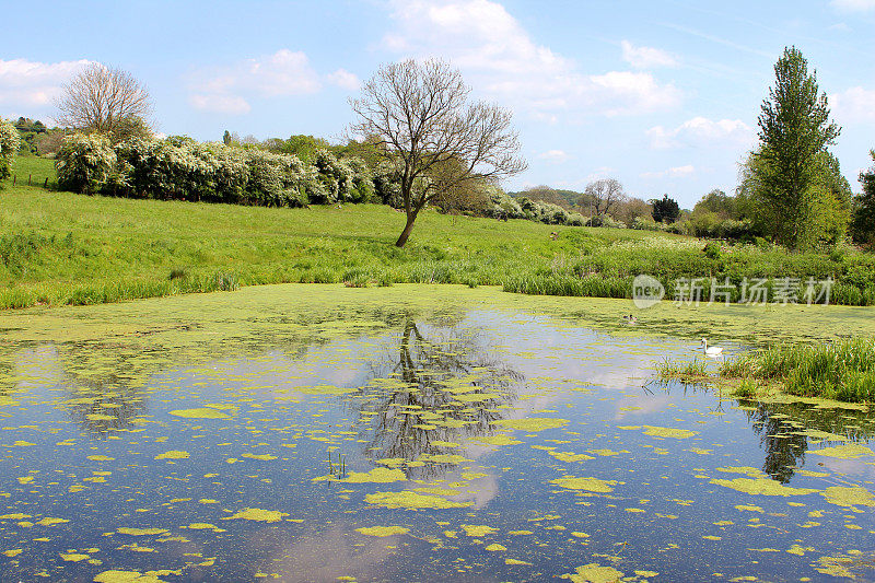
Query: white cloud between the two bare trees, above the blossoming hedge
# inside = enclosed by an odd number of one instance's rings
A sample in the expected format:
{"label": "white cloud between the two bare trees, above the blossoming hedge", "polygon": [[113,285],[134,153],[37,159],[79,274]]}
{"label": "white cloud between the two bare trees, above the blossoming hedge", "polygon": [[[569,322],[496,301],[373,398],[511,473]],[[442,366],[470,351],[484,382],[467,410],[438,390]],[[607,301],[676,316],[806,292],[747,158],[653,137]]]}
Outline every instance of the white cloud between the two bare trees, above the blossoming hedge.
{"label": "white cloud between the two bare trees, above the blossoming hedge", "polygon": [[224,67],[196,71],[189,103],[199,109],[243,114],[248,96],[284,97],[316,93],[319,75],[302,51],[280,49],[272,55],[245,59]]}

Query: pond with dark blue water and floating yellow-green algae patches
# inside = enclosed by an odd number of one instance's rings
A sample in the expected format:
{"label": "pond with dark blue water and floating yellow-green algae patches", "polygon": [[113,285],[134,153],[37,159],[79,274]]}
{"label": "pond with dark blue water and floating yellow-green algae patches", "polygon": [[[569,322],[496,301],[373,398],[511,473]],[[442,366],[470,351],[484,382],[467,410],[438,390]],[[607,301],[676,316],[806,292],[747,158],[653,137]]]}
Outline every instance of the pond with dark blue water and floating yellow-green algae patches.
{"label": "pond with dark blue water and floating yellow-green algae patches", "polygon": [[865,407],[660,385],[696,336],[513,298],[0,315],[0,580],[875,578]]}

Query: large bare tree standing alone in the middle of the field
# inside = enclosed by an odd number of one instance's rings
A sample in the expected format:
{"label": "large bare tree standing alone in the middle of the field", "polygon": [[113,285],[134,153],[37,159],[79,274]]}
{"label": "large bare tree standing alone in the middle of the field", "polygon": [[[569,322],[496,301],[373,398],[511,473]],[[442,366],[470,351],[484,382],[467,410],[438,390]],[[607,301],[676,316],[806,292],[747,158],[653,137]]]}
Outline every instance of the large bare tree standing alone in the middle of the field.
{"label": "large bare tree standing alone in the middle of the field", "polygon": [[407,214],[402,247],[420,210],[466,183],[498,180],[526,168],[509,109],[468,103],[462,74],[438,59],[386,65],[350,100],[360,120],[352,135],[370,137],[382,156],[398,164]]}

